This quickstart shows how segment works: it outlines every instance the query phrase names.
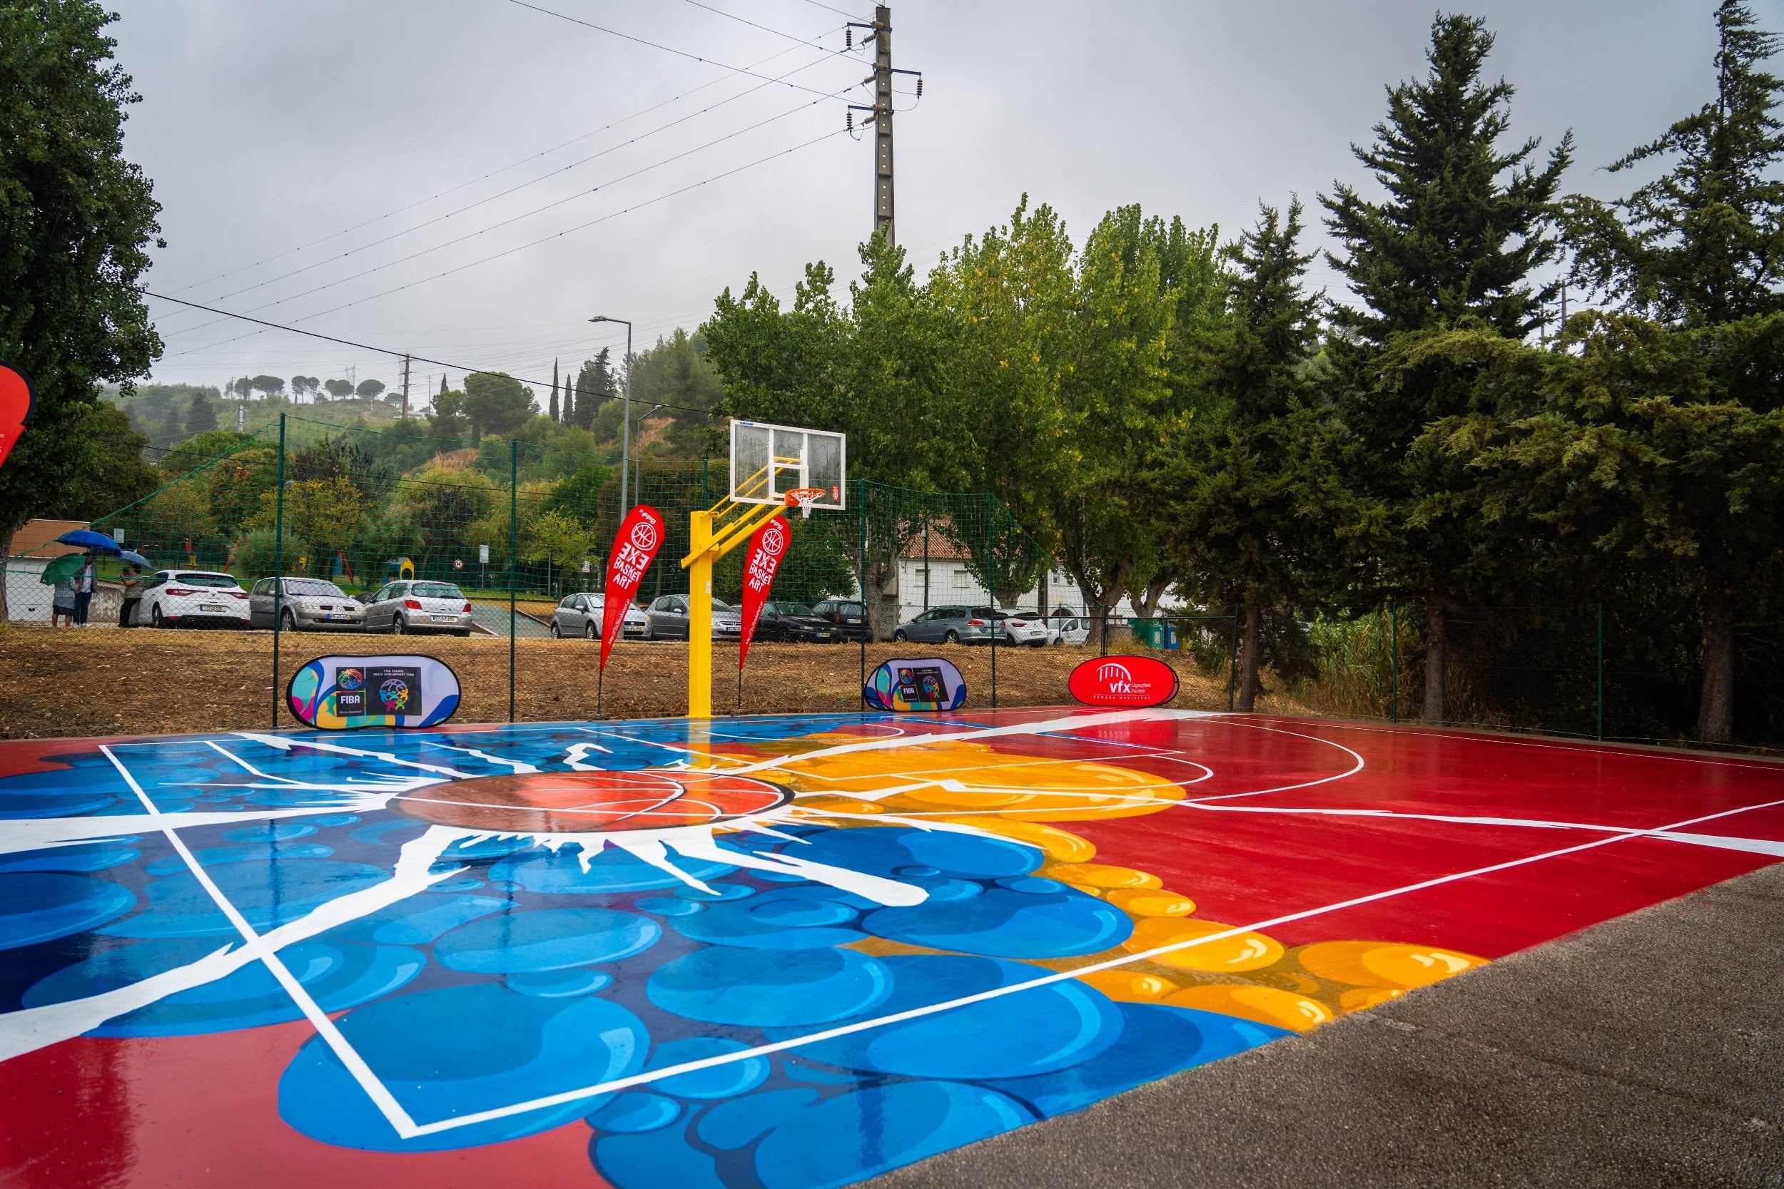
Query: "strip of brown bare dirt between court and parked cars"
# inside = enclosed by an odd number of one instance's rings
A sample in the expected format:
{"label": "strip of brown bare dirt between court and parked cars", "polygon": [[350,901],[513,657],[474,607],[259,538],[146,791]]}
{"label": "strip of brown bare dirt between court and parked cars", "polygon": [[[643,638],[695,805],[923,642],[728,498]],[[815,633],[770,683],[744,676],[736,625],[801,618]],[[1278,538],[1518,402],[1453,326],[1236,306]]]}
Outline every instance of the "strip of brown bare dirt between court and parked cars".
{"label": "strip of brown bare dirt between court and parked cars", "polygon": [[[280,690],[296,668],[330,652],[364,656],[419,652],[453,667],[464,688],[455,722],[507,722],[508,642],[450,636],[360,636],[285,633]],[[869,670],[892,656],[922,656],[913,645],[869,645]],[[990,706],[990,649],[938,649],[967,679],[967,708]],[[1177,670],[1174,706],[1226,709],[1226,676],[1210,677],[1183,652],[1147,652]],[[596,658],[589,640],[517,640],[514,718],[596,717]],[[999,706],[1069,704],[1065,677],[1092,649],[997,649]],[[822,713],[860,706],[856,645],[756,644],[737,701],[737,649],[714,649],[715,713]],[[164,734],[264,729],[273,713],[273,635],[268,631],[77,631],[0,629],[0,738]],[[280,704],[284,699],[278,699]],[[605,718],[687,713],[687,645],[619,644],[607,667]],[[1267,713],[1306,713],[1281,697],[1260,699]],[[280,706],[282,727],[301,726]]]}

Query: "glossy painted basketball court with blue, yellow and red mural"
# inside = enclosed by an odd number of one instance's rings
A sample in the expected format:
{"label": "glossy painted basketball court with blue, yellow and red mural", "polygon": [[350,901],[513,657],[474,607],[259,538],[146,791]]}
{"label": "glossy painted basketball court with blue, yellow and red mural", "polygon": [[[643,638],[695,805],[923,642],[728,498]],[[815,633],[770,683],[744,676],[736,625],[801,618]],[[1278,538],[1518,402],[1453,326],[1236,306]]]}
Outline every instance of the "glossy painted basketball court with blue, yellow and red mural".
{"label": "glossy painted basketball court with blue, yellow and red mural", "polygon": [[840,1185],[1779,857],[1779,765],[1172,709],[5,743],[0,1184]]}

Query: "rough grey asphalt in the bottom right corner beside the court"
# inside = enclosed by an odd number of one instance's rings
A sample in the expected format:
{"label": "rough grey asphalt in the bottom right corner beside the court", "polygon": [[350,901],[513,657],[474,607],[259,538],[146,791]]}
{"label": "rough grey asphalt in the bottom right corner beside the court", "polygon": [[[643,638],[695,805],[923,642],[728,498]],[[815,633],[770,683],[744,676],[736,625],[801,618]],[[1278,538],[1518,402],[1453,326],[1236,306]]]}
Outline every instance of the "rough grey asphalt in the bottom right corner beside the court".
{"label": "rough grey asphalt in the bottom right corner beside the court", "polygon": [[865,1184],[1784,1185],[1784,865]]}

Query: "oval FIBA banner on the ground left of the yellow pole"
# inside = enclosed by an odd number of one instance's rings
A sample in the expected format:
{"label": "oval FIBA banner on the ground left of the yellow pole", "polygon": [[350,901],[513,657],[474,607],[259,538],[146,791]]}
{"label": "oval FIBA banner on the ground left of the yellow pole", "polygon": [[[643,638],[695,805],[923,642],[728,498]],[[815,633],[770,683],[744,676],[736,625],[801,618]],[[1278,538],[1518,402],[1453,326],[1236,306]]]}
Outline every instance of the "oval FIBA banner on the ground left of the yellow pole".
{"label": "oval FIBA banner on the ground left of the yellow pole", "polygon": [[323,731],[437,727],[458,709],[458,674],[432,656],[318,656],[291,676],[285,704]]}

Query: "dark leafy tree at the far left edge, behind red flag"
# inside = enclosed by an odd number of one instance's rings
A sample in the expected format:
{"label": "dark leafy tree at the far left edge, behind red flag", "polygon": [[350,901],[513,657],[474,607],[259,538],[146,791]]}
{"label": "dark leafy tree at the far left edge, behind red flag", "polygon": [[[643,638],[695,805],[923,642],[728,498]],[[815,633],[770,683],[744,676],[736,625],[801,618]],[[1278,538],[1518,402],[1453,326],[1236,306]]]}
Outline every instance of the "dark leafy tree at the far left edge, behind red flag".
{"label": "dark leafy tree at the far left edge, behind red flag", "polygon": [[36,389],[0,469],[0,538],[80,481],[98,387],[128,392],[161,355],[141,294],[161,207],[123,153],[137,96],[112,20],[91,0],[0,5],[0,358]]}

